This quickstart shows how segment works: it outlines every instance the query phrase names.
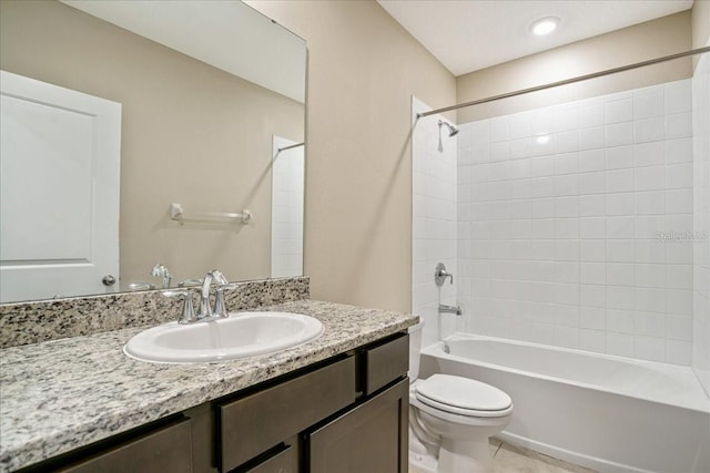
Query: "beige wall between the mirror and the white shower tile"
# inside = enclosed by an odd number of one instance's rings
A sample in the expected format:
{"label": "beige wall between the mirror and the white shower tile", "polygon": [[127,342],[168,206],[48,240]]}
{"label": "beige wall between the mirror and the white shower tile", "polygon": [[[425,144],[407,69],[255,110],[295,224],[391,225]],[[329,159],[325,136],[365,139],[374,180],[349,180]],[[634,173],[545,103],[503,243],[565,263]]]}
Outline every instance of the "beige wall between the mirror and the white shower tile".
{"label": "beige wall between the mirror and the white shower tile", "polygon": [[409,310],[410,95],[454,103],[454,76],[374,1],[248,3],[308,43],[312,297]]}

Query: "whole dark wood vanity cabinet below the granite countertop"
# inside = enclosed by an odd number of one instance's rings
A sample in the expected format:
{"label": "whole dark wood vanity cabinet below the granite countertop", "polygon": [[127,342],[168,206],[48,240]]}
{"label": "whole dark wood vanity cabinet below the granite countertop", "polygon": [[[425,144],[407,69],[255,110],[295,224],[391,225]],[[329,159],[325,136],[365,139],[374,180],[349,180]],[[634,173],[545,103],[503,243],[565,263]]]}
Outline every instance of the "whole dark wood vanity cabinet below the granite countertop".
{"label": "whole dark wood vanity cabinet below the granite countertop", "polygon": [[67,473],[406,473],[408,336],[26,469]]}

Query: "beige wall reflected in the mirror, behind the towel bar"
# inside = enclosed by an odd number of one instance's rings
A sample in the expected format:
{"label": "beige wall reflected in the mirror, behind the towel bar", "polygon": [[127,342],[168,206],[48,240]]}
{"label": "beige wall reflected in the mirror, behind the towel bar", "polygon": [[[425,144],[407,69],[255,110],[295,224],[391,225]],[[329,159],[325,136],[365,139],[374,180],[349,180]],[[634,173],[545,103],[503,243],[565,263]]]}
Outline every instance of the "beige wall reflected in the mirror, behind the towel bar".
{"label": "beige wall reflected in the mirror, behind the towel bar", "polygon": [[[159,261],[178,280],[268,277],[272,134],[302,141],[303,104],[54,1],[0,6],[3,70],[123,104],[122,282],[158,282]],[[172,202],[254,222],[180,227]]]}

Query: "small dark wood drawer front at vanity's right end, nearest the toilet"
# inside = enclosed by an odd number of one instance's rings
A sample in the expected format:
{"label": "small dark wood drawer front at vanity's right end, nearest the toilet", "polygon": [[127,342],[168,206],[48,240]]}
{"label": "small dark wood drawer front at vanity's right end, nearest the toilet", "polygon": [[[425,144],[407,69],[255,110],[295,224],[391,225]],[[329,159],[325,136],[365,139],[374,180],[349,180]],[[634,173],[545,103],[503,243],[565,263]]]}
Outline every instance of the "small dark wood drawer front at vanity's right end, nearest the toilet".
{"label": "small dark wood drawer front at vanity's right end, nearest the toilet", "polygon": [[363,391],[372,394],[409,370],[409,335],[363,349]]}

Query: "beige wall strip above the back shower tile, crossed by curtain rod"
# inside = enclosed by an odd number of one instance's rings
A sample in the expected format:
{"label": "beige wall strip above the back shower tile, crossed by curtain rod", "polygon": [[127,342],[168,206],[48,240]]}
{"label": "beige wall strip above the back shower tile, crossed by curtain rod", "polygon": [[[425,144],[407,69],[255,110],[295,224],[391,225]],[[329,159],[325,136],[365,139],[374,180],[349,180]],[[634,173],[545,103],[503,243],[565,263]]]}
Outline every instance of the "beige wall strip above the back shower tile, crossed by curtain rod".
{"label": "beige wall strip above the back shower tile, crossed by curtain rod", "polygon": [[[691,48],[690,10],[494,65],[456,80],[457,103],[618,68]],[[692,75],[690,59],[666,62],[458,111],[458,123],[609,94]]]}

